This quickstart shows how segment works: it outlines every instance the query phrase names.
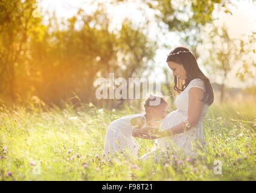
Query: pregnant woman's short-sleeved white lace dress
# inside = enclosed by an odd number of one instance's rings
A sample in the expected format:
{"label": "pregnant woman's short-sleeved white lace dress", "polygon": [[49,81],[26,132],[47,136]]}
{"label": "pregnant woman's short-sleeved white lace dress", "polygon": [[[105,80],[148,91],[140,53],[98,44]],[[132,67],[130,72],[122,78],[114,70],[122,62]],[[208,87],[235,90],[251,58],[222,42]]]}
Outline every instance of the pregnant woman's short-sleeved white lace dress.
{"label": "pregnant woman's short-sleeved white lace dress", "polygon": [[[191,80],[185,90],[180,93],[175,100],[175,104],[178,109],[165,116],[159,131],[167,130],[168,128],[174,127],[175,125],[178,125],[182,121],[188,119],[188,91],[192,87],[198,87],[205,91],[205,86],[201,79],[196,78]],[[153,147],[152,151],[142,156],[141,159],[147,157],[147,155],[152,155],[152,153],[154,155],[156,150],[163,152],[173,150],[175,153],[182,153],[186,157],[193,157],[196,154],[196,151],[193,150],[193,145],[195,145],[194,142],[199,141],[200,144],[203,143],[203,119],[207,110],[208,105],[204,103],[202,113],[195,127],[185,131],[184,133],[156,139],[155,146]]]}

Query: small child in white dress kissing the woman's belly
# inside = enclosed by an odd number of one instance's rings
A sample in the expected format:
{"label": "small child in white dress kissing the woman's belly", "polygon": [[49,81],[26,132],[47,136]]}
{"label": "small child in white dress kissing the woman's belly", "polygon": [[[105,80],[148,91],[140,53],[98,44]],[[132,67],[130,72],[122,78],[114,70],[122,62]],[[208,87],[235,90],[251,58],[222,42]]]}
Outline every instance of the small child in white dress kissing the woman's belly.
{"label": "small child in white dress kissing the woman's belly", "polygon": [[[153,106],[152,103],[155,101],[159,101],[159,103]],[[144,101],[143,106],[144,114],[124,116],[110,123],[104,142],[104,153],[120,153],[128,150],[130,154],[138,158],[139,145],[133,138],[136,136],[133,135],[133,129],[144,128],[147,131],[159,128],[161,121],[155,120],[164,119],[167,101],[162,96],[150,95]]]}

